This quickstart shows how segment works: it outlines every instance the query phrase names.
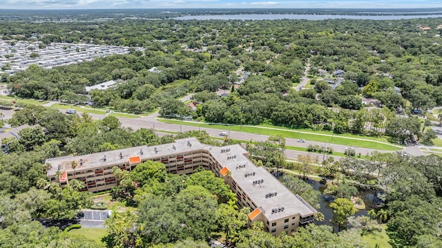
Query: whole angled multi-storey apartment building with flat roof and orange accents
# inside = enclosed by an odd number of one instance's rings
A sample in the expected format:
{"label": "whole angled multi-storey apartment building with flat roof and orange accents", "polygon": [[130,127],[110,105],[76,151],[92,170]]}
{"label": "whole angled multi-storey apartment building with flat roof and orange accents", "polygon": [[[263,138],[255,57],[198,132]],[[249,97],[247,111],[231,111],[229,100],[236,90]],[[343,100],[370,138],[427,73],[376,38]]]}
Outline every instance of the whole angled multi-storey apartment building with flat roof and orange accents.
{"label": "whole angled multi-storey apartment building with flat roof and orange accents", "polygon": [[152,160],[165,164],[169,173],[191,174],[203,167],[224,179],[236,193],[238,207],[249,207],[249,225],[262,221],[266,231],[278,236],[291,234],[314,220],[317,211],[299,195],[294,195],[265,168],[255,166],[239,144],[209,146],[195,138],[171,144],[137,146],[79,156],[46,160],[50,182],[61,187],[69,180],[85,182],[84,190],[99,192],[117,185],[112,169],[132,171],[137,164]]}

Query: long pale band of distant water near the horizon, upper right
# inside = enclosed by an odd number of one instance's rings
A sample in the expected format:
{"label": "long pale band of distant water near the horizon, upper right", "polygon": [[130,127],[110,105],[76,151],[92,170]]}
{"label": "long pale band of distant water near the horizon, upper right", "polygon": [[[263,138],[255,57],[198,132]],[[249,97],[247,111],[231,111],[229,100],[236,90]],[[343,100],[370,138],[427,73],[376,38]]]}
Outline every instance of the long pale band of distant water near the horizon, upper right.
{"label": "long pale band of distant water near the horizon, upper right", "polygon": [[175,17],[175,20],[310,20],[359,19],[359,20],[398,20],[416,18],[437,18],[442,15],[298,15],[298,14],[250,14],[250,15],[188,15]]}

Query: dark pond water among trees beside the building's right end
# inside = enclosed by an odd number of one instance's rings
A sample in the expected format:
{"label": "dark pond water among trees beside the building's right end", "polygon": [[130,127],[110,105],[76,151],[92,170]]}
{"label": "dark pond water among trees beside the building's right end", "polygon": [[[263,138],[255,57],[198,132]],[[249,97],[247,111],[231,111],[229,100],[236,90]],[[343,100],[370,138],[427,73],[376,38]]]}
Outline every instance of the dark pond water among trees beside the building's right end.
{"label": "dark pond water among trees beside the building's right end", "polygon": [[[333,201],[334,197],[333,195],[325,195],[324,189],[325,186],[323,184],[320,184],[318,181],[314,180],[307,180],[307,182],[314,187],[317,191],[320,191],[320,209],[318,209],[319,212],[324,214],[324,220],[321,222],[315,222],[317,225],[328,225],[331,227],[334,227],[335,231],[338,231],[338,225],[334,225],[330,220],[333,220],[334,213],[333,209],[329,207],[330,202]],[[379,198],[377,198],[378,191],[370,190],[370,189],[358,189],[359,195],[358,197],[363,199],[365,203],[365,209],[364,210],[358,210],[354,214],[354,216],[368,216],[367,211],[369,209],[373,209],[376,207],[376,204],[380,202]]]}

